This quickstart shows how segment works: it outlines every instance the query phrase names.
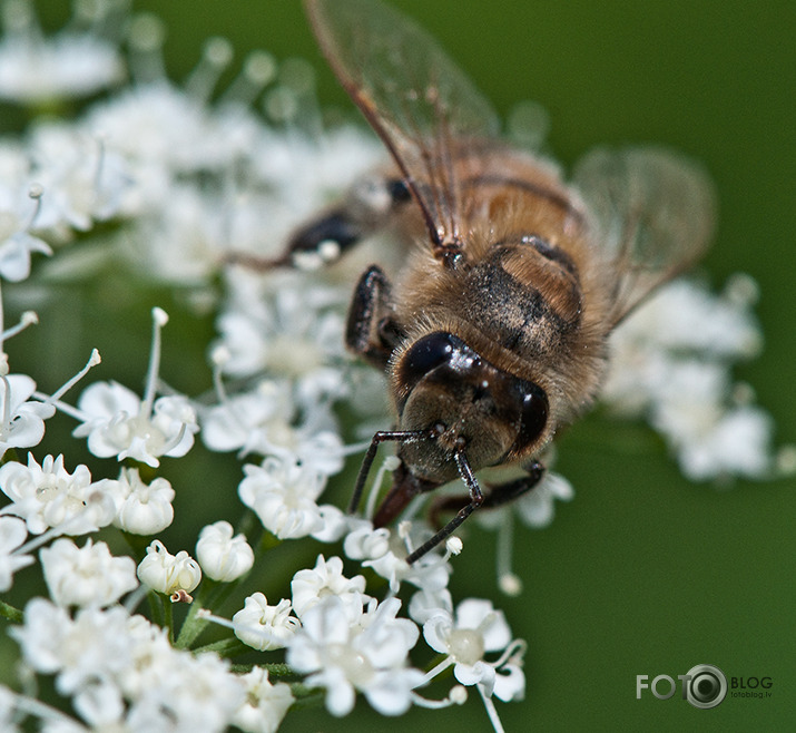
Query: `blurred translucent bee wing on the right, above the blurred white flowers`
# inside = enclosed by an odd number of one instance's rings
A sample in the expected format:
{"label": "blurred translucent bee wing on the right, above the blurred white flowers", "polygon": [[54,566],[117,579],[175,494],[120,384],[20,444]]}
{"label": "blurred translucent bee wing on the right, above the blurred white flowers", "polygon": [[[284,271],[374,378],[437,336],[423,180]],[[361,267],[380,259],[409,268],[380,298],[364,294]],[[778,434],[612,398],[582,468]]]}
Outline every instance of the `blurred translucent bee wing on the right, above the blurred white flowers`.
{"label": "blurred translucent bee wing on the right, above the blurred white flowers", "polygon": [[687,158],[657,148],[597,149],[576,167],[574,184],[617,276],[613,325],[707,250],[716,196],[707,173]]}

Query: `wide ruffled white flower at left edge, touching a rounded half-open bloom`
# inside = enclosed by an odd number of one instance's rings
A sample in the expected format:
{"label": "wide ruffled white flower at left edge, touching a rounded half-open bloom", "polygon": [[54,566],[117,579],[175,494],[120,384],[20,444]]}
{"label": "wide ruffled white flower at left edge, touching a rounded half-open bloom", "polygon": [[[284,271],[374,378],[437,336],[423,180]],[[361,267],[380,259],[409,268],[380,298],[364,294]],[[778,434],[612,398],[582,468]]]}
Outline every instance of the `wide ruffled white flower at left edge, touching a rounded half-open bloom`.
{"label": "wide ruffled white flower at left edge, touching a rounded half-open bloom", "polygon": [[21,517],[33,535],[49,527],[85,535],[111,522],[114,485],[109,479],[92,483],[86,466],[69,473],[63,468],[63,456],[46,456],[39,466],[28,455],[27,466],[11,461],[0,468],[0,489],[12,501],[0,514]]}

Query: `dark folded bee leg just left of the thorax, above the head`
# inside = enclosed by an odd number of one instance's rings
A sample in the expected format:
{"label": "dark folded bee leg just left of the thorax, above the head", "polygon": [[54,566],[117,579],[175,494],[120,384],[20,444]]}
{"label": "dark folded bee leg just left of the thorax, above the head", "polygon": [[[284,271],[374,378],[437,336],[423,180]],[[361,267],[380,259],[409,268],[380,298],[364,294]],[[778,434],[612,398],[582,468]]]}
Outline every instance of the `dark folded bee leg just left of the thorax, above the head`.
{"label": "dark folded bee leg just left of the thorax, above the head", "polygon": [[393,317],[390,281],[377,265],[360,277],[348,309],[345,343],[354,353],[384,370],[403,331]]}

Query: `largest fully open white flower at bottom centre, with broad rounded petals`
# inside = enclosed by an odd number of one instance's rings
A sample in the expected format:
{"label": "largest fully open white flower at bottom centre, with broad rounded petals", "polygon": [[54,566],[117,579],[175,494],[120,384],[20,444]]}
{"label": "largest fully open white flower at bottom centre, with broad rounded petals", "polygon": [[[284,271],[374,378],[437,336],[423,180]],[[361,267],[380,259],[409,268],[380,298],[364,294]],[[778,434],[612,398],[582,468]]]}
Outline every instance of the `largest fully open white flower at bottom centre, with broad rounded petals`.
{"label": "largest fully open white flower at bottom centre, with broad rounded petals", "polygon": [[384,600],[352,622],[337,596],[309,608],[287,647],[287,664],[307,674],[308,686],[326,688],[326,710],[347,715],[361,692],[382,715],[401,715],[412,704],[412,690],[423,673],[406,665],[419,637],[407,618],[396,618],[397,598]]}

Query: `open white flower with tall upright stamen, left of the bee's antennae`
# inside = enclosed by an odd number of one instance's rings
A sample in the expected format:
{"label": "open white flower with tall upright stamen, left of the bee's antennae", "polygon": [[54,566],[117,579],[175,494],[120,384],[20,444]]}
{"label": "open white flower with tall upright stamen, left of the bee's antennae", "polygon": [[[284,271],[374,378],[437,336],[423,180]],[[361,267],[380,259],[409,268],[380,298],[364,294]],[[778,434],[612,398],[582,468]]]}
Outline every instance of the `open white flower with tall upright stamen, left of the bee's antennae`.
{"label": "open white flower with tall upright stamen, left of the bee's antennae", "polygon": [[153,467],[160,465],[161,456],[185,456],[199,429],[186,398],[158,398],[150,411],[132,390],[112,381],[83,390],[78,409],[86,418],[72,434],[88,436],[95,456],[131,458]]}

